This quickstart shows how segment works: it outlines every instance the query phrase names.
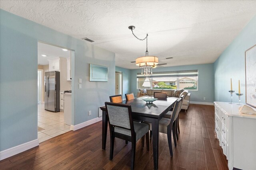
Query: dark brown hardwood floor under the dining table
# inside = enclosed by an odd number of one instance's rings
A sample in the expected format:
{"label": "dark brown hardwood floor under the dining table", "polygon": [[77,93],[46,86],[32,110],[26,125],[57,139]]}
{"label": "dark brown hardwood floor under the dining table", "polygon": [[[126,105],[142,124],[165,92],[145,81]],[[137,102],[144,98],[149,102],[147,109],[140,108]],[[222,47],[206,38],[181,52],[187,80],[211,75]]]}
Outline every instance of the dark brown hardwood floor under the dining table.
{"label": "dark brown hardwood floor under the dining table", "polygon": [[[114,158],[110,161],[109,131],[106,150],[102,150],[101,129],[102,123],[98,122],[54,137],[0,161],[0,169],[130,169],[131,143],[125,145],[125,141],[115,139]],[[150,144],[147,152],[146,147],[141,148],[141,141],[137,142],[135,169],[153,169],[152,141]],[[173,152],[170,157],[167,135],[160,133],[159,170],[228,169],[226,156],[214,136],[214,106],[190,104],[186,113],[180,112],[179,140],[176,148],[173,143]]]}

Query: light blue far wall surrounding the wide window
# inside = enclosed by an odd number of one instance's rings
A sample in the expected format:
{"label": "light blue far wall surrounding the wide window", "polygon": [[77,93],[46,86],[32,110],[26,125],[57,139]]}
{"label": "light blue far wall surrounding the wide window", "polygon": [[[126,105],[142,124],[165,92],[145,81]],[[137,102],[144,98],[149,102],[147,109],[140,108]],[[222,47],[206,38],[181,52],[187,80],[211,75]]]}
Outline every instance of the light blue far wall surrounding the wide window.
{"label": "light blue far wall surrounding the wide window", "polygon": [[[163,71],[179,71],[179,70],[198,70],[198,91],[189,91],[191,93],[190,100],[193,102],[214,102],[214,73],[213,64],[198,64],[188,66],[172,66],[172,67],[157,67],[153,72]],[[131,91],[137,95],[137,73],[141,69],[131,71]],[[203,98],[206,100],[203,100]]]}

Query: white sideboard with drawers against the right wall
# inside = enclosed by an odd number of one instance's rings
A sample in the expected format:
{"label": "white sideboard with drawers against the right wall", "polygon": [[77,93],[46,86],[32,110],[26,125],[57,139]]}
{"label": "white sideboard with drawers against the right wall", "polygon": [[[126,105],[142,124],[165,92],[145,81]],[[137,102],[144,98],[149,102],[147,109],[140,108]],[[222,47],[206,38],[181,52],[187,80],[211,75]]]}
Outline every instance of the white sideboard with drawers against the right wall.
{"label": "white sideboard with drawers against the right wall", "polygon": [[256,170],[256,115],[240,113],[236,103],[214,104],[215,132],[228,168]]}

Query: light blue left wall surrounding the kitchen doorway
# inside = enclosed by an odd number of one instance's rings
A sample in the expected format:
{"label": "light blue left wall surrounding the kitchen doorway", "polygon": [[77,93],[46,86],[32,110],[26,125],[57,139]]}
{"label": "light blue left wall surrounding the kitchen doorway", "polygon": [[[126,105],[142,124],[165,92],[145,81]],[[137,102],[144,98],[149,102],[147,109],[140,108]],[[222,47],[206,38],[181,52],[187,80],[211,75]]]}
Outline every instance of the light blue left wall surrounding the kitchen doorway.
{"label": "light blue left wall surrounding the kitchen doorway", "polygon": [[[37,139],[38,41],[75,51],[74,125],[98,117],[114,94],[114,53],[0,10],[0,151]],[[108,82],[89,82],[89,63],[108,66]]]}

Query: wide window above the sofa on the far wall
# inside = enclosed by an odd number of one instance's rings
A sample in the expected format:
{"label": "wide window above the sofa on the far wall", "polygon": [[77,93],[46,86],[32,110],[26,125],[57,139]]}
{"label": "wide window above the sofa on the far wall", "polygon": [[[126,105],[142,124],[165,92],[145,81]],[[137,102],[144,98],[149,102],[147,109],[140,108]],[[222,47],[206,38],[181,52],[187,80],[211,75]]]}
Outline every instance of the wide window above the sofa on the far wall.
{"label": "wide window above the sofa on the far wall", "polygon": [[198,90],[198,70],[154,72],[150,77],[137,74],[137,89]]}

